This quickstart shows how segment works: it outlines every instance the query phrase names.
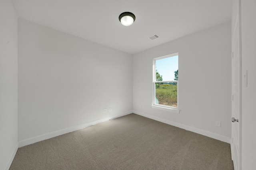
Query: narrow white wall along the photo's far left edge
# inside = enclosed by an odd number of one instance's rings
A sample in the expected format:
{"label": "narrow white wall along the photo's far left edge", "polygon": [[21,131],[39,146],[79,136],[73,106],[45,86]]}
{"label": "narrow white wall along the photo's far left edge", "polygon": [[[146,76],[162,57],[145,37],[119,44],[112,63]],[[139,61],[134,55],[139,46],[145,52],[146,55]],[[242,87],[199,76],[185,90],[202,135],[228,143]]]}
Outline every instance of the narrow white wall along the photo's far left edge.
{"label": "narrow white wall along the photo's far left edge", "polygon": [[10,0],[0,1],[0,170],[9,169],[18,149],[17,16]]}

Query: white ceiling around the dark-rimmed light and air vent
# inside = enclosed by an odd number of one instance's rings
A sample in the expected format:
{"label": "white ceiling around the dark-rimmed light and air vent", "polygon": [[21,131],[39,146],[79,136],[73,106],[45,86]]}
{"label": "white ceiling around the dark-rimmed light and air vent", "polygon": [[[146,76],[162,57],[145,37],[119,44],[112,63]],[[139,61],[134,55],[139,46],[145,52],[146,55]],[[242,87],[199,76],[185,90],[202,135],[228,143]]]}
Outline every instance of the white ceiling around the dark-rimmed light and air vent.
{"label": "white ceiling around the dark-rimmed light and air vent", "polygon": [[[12,0],[19,18],[135,54],[231,20],[233,0]],[[131,26],[122,12],[136,16]],[[160,37],[149,39],[157,34]]]}

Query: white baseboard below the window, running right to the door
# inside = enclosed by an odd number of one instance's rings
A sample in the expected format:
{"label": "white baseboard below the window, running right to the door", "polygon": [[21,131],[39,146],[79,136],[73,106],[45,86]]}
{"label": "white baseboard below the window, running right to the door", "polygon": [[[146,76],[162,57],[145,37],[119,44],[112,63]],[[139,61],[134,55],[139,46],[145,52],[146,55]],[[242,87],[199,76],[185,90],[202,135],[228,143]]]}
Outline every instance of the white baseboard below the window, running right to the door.
{"label": "white baseboard below the window, running right to the door", "polygon": [[200,135],[211,137],[211,138],[217,139],[219,141],[223,141],[223,142],[226,142],[226,143],[229,143],[229,144],[231,143],[231,138],[225,137],[225,136],[222,136],[222,135],[218,135],[216,133],[212,133],[212,132],[205,131],[205,130],[202,130],[202,129],[197,129],[195,127],[183,125],[183,124],[180,124],[180,123],[177,123],[177,122],[174,122],[174,121],[169,121],[169,120],[166,120],[166,119],[162,119],[160,117],[156,117],[156,116],[153,116],[153,115],[148,115],[148,114],[141,113],[141,112],[135,111],[135,110],[133,111],[133,113],[135,113],[137,115],[144,116],[144,117],[148,117],[148,118],[156,120],[156,121],[160,121],[162,123],[166,123],[168,125],[176,126],[176,127],[181,128],[181,129],[185,129],[187,131],[192,131],[192,132],[198,133]]}

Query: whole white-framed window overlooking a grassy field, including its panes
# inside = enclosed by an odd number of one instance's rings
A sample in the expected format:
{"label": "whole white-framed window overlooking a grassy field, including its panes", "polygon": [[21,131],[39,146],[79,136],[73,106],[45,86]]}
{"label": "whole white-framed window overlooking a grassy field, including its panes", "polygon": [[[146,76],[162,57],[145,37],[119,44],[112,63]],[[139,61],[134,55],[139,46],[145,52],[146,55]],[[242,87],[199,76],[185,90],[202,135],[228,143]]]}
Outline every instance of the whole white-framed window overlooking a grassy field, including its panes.
{"label": "whole white-framed window overlooking a grassy field, including its panes", "polygon": [[153,75],[152,107],[178,111],[178,53],[155,58]]}

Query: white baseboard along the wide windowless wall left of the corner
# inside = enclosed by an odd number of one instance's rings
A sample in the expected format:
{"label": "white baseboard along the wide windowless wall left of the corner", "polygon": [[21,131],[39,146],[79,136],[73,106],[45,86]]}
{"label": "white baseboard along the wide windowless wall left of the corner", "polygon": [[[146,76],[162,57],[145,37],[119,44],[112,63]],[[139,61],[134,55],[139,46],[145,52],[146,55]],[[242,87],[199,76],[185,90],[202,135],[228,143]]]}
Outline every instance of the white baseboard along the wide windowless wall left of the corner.
{"label": "white baseboard along the wide windowless wall left of the corner", "polygon": [[77,130],[83,129],[85,127],[89,127],[89,126],[92,126],[92,125],[96,125],[98,123],[102,123],[102,122],[105,122],[105,121],[108,121],[108,120],[111,120],[111,119],[116,119],[118,117],[128,115],[130,113],[132,113],[132,111],[127,111],[125,113],[120,113],[120,114],[113,115],[113,116],[110,116],[110,117],[105,117],[103,119],[98,119],[98,120],[95,120],[95,121],[84,123],[82,125],[77,125],[77,126],[69,127],[69,128],[66,128],[66,129],[61,129],[59,131],[54,131],[54,132],[51,132],[51,133],[46,133],[46,134],[43,134],[43,135],[39,135],[39,136],[36,136],[36,137],[25,139],[25,140],[19,141],[19,147],[24,147],[26,145],[30,145],[32,143],[36,143],[36,142],[39,142],[39,141],[50,139],[52,137],[63,135],[65,133],[70,133],[70,132],[73,132],[73,131],[77,131]]}

